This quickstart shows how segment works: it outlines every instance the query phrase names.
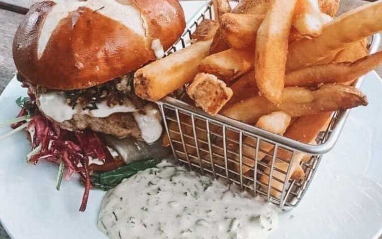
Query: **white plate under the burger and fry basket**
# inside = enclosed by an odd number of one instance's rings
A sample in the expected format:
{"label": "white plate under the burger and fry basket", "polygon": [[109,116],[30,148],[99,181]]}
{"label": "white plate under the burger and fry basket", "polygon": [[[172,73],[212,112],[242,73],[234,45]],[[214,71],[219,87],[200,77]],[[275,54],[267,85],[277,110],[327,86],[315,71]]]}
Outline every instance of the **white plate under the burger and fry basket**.
{"label": "white plate under the burger and fry basket", "polygon": [[[200,1],[183,2],[190,17]],[[324,156],[300,205],[281,215],[271,239],[373,239],[382,229],[382,84],[375,72],[362,87],[369,106],[352,111],[336,147]],[[0,96],[0,122],[19,111],[26,95],[13,79]],[[0,135],[8,129],[0,129]],[[106,239],[96,228],[104,192],[92,190],[78,211],[83,187],[64,181],[56,191],[57,166],[25,162],[25,134],[0,141],[0,220],[14,239]]]}

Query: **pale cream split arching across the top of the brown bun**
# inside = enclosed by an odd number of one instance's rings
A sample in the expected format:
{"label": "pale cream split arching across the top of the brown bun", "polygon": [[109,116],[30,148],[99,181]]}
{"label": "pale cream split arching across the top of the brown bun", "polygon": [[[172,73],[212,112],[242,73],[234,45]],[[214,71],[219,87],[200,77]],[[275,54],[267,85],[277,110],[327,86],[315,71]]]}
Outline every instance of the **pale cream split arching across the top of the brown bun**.
{"label": "pale cream split arching across the top of the brown bun", "polygon": [[145,25],[140,12],[128,1],[116,0],[55,0],[52,10],[46,16],[42,25],[41,34],[38,39],[37,56],[40,58],[44,53],[46,45],[53,31],[58,26],[60,20],[67,17],[69,12],[77,10],[79,7],[88,7],[97,10],[113,20],[116,20],[130,28],[139,35],[146,34]]}

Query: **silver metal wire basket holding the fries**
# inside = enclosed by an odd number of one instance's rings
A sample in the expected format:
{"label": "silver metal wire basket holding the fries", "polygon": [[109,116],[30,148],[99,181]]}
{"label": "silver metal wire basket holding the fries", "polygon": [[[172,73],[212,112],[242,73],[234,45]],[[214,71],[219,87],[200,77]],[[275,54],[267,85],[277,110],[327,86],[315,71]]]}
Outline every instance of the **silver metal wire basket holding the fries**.
{"label": "silver metal wire basket holding the fries", "polygon": [[[186,31],[167,52],[171,54],[190,45],[191,34],[203,19],[213,19],[212,1],[208,0],[191,18]],[[375,53],[380,35],[374,35],[369,51]],[[355,86],[361,86],[360,78]],[[176,98],[157,102],[168,144],[174,157],[190,170],[223,178],[241,190],[262,195],[280,207],[295,207],[303,198],[322,159],[332,149],[349,114],[339,111],[316,138],[305,144],[224,116],[210,116]],[[264,150],[266,148],[267,150]],[[271,150],[269,150],[271,149]],[[302,160],[301,160],[302,159]],[[293,179],[295,164],[300,162],[303,179]]]}

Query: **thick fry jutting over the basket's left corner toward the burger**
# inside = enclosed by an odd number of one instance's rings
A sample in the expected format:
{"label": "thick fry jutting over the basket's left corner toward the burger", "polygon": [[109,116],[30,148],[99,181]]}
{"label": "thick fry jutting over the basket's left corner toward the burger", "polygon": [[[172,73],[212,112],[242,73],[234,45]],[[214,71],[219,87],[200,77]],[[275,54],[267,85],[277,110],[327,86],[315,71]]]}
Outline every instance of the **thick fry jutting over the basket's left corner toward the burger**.
{"label": "thick fry jutting over the basket's left corner toward the burger", "polygon": [[211,40],[199,41],[137,70],[135,94],[158,101],[193,80],[200,61],[209,53]]}

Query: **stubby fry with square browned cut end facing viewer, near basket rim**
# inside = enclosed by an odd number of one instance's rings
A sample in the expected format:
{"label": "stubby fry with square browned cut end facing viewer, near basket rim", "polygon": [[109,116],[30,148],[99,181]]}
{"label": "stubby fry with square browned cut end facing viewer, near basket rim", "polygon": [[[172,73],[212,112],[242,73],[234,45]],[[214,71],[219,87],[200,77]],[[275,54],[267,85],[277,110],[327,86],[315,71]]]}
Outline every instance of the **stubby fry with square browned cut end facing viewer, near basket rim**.
{"label": "stubby fry with square browned cut end facing viewer, near basket rim", "polygon": [[215,116],[231,99],[232,90],[216,76],[198,73],[187,88],[187,94],[195,101],[197,107]]}

